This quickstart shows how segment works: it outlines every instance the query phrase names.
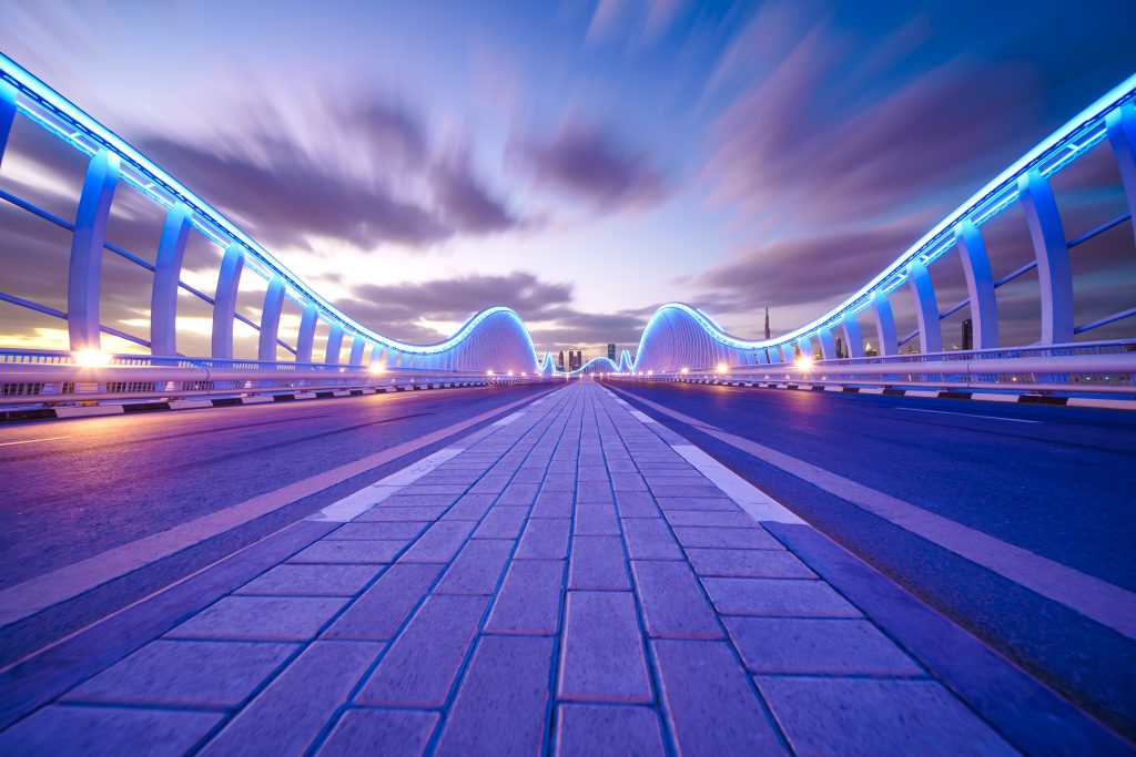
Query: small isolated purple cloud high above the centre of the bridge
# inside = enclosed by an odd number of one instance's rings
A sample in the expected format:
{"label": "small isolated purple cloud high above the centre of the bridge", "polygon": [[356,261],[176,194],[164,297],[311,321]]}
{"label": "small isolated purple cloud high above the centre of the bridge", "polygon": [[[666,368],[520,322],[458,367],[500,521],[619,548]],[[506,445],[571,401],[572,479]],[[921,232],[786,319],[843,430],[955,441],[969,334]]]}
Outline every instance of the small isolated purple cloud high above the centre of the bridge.
{"label": "small isolated purple cloud high above the centre of the bridge", "polygon": [[595,126],[569,124],[546,140],[516,143],[511,152],[538,185],[601,212],[654,204],[669,191],[644,152],[624,148]]}

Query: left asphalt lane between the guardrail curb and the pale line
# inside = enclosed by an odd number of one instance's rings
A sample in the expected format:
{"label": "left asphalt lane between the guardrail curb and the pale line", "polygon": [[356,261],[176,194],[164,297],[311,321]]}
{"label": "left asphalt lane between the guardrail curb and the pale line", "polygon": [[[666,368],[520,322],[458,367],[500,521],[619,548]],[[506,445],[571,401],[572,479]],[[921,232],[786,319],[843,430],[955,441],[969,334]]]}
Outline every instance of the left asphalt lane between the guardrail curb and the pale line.
{"label": "left asphalt lane between the guardrail curb and the pale line", "polygon": [[0,426],[0,589],[545,390],[409,392]]}

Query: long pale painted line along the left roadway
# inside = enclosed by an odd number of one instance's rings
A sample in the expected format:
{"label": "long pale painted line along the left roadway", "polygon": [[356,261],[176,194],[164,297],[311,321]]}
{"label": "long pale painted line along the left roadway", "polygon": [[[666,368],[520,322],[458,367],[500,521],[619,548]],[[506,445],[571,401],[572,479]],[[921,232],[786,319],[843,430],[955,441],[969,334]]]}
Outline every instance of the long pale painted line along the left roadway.
{"label": "long pale painted line along the left roadway", "polygon": [[513,401],[414,441],[404,441],[3,589],[0,591],[0,629],[532,401],[533,397]]}

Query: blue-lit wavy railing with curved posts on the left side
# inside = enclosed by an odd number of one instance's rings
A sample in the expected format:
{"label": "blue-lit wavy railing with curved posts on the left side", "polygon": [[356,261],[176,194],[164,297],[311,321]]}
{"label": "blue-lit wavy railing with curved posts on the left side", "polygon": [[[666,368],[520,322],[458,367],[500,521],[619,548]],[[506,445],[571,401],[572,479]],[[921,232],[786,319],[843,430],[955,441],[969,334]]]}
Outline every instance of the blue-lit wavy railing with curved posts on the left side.
{"label": "blue-lit wavy railing with curved posts on the left side", "polygon": [[[310,363],[316,328],[329,326],[325,363],[339,364],[343,339],[351,339],[346,364],[381,363],[391,369],[552,371],[551,355],[540,359],[520,317],[508,308],[490,308],[471,317],[449,339],[414,345],[378,334],[350,318],[323,297],[233,221],[197,196],[110,129],[77,108],[7,56],[0,54],[0,160],[17,117],[53,135],[90,157],[74,220],[59,218],[34,203],[0,191],[0,199],[72,233],[67,310],[61,311],[15,294],[0,292],[0,301],[67,321],[70,350],[100,351],[101,334],[111,334],[149,347],[154,355],[177,355],[176,318],[178,291],[185,291],[214,308],[212,358],[233,356],[233,323],[242,321],[259,331],[261,362],[276,358],[277,347]],[[105,238],[107,219],[119,182],[126,182],[166,210],[166,222],[157,261],[142,258]],[[181,280],[187,236],[200,234],[225,250],[210,297]],[[150,338],[111,328],[99,319],[100,261],[103,250],[153,274]],[[242,272],[248,269],[267,281],[260,322],[236,311]],[[303,311],[298,344],[278,337],[285,300]],[[490,334],[492,333],[492,334]],[[486,338],[478,338],[478,335]],[[369,351],[369,358],[365,352]]]}

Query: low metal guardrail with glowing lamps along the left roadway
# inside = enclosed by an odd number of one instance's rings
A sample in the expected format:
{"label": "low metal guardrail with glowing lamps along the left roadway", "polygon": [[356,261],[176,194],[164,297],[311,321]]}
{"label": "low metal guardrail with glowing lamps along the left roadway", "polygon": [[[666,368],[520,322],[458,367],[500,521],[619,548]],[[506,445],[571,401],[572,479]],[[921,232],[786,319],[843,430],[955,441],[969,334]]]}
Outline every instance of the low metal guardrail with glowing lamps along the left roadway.
{"label": "low metal guardrail with glowing lamps along the left roadway", "polygon": [[281,394],[296,389],[383,390],[544,380],[549,379],[536,373],[499,375],[492,371],[473,373],[359,364],[0,351],[0,405],[9,406],[234,397]]}

